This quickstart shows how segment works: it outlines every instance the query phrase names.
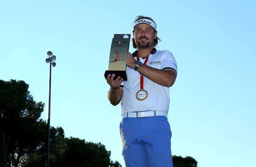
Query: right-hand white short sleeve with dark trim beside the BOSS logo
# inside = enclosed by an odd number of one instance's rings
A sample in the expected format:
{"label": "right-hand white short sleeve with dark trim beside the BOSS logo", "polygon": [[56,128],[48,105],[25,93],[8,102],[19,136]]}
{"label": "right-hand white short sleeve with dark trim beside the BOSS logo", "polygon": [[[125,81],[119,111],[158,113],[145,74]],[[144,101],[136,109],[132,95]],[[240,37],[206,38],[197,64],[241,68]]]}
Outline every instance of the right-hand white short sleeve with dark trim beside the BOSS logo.
{"label": "right-hand white short sleeve with dark trim beside the BOSS logo", "polygon": [[169,52],[168,50],[165,50],[162,55],[161,60],[161,70],[173,70],[174,72],[178,71],[177,63],[175,58],[172,55],[172,52]]}

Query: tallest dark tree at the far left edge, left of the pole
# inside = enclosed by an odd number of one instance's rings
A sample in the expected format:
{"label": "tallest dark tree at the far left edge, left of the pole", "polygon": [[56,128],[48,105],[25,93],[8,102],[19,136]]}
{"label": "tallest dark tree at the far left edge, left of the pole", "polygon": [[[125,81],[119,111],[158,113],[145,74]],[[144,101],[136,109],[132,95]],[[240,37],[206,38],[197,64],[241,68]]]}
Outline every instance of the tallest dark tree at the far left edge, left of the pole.
{"label": "tallest dark tree at the far left edge, left of the pole", "polygon": [[[36,121],[44,103],[36,103],[24,81],[0,80],[0,167],[14,167],[36,147]],[[9,147],[10,146],[10,147]]]}

